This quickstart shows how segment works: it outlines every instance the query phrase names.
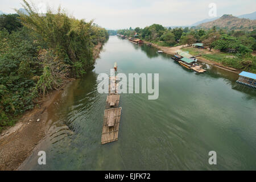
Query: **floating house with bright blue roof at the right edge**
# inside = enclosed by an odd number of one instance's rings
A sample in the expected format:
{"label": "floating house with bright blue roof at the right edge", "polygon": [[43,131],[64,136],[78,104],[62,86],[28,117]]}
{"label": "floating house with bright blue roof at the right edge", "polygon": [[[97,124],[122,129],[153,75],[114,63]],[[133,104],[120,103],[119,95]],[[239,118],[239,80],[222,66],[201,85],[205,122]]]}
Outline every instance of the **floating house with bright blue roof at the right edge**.
{"label": "floating house with bright blue roof at the right edge", "polygon": [[237,83],[246,85],[246,86],[250,86],[251,88],[256,89],[256,74],[242,71],[239,74]]}

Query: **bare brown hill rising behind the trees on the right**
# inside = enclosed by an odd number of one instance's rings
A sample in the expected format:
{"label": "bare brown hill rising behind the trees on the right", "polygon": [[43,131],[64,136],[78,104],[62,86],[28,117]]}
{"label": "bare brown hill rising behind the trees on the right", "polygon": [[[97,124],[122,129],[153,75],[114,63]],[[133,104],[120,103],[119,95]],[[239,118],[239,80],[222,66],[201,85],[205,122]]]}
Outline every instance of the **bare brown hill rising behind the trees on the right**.
{"label": "bare brown hill rising behind the trees on the right", "polygon": [[256,20],[250,20],[245,18],[237,18],[232,15],[223,15],[221,18],[213,20],[207,23],[201,23],[196,28],[227,28],[229,30],[246,30],[253,31],[256,28]]}

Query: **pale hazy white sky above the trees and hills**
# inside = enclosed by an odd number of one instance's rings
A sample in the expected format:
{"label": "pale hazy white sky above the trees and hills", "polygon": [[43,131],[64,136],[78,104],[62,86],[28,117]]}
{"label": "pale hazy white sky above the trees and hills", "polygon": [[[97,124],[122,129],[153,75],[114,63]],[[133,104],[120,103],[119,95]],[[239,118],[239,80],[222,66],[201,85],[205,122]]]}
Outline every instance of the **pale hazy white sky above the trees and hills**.
{"label": "pale hazy white sky above the trees and hills", "polygon": [[[30,1],[28,1],[30,2]],[[242,15],[256,11],[255,0],[32,0],[44,11],[46,5],[59,5],[78,19],[91,20],[109,29],[145,27],[153,23],[163,26],[185,26],[209,17],[210,3],[216,3],[217,16]],[[21,0],[1,0],[0,10],[15,13]]]}

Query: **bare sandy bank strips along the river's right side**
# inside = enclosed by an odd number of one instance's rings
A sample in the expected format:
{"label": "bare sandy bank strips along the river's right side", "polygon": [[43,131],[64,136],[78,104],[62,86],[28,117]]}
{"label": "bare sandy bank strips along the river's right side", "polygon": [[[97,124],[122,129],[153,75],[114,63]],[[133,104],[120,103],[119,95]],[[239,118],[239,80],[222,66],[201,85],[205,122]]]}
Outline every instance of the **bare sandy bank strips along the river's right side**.
{"label": "bare sandy bank strips along the river's right side", "polygon": [[[147,41],[144,41],[144,43],[149,43]],[[163,51],[164,53],[167,53],[169,55],[175,55],[175,53],[177,52],[177,50],[181,49],[181,48],[185,48],[187,47],[187,45],[181,45],[181,46],[176,46],[176,47],[164,47],[164,46],[158,46],[157,44],[151,43],[151,46],[160,49],[161,51]],[[181,50],[182,51],[182,50]],[[207,63],[210,65],[213,65],[214,67],[218,67],[221,69],[225,69],[226,71],[229,72],[233,72],[233,73],[240,73],[241,71],[238,69],[234,69],[234,68],[230,68],[230,67],[225,67],[224,65],[222,65],[221,63],[217,63],[216,61],[211,61],[211,60],[207,60],[204,57],[200,57],[200,56],[196,56],[196,58],[203,62],[203,63]]]}

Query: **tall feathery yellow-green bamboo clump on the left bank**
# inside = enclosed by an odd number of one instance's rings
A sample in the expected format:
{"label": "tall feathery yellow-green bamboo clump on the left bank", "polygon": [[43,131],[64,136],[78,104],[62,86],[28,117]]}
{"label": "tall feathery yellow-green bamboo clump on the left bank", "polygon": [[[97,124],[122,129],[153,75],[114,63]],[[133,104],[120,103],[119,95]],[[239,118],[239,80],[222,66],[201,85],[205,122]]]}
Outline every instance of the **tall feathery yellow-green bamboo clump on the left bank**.
{"label": "tall feathery yellow-green bamboo clump on the left bank", "polygon": [[27,1],[23,2],[28,15],[20,11],[18,13],[24,26],[33,30],[39,42],[46,43],[48,48],[54,49],[56,55],[62,55],[60,59],[66,59],[71,66],[72,77],[81,76],[77,74],[74,65],[81,65],[80,73],[85,73],[93,64],[94,45],[104,42],[108,32],[96,24],[92,25],[92,22],[69,18],[61,9],[56,14],[48,9],[46,16],[40,16]]}

